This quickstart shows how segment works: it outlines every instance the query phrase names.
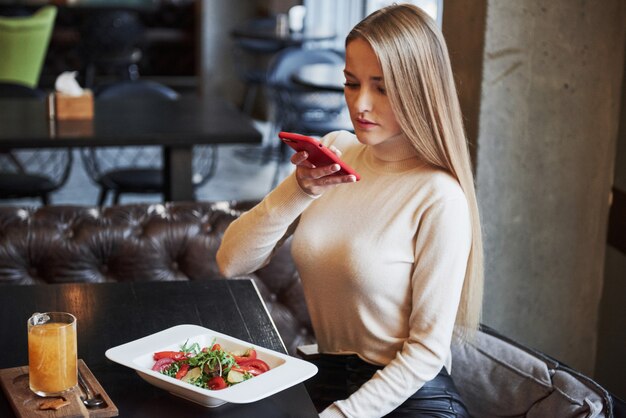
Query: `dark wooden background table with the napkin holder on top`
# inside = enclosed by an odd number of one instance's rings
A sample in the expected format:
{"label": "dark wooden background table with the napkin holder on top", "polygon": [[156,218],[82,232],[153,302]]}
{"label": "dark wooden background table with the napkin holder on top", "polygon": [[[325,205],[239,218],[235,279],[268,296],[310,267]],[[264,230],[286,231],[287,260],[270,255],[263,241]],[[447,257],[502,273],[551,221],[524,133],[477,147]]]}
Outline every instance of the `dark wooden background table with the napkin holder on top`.
{"label": "dark wooden background table with the napkin holder on top", "polygon": [[95,102],[93,120],[49,120],[45,103],[0,100],[0,151],[20,148],[160,145],[164,200],[193,200],[196,144],[260,143],[252,120],[216,97]]}

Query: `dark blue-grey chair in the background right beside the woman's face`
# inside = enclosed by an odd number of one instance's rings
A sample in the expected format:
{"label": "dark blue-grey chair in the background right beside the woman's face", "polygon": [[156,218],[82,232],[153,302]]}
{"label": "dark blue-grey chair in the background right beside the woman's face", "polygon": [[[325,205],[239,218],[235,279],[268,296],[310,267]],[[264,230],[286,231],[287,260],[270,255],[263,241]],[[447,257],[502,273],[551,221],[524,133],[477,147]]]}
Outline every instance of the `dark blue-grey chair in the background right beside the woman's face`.
{"label": "dark blue-grey chair in the background right beside the woman's face", "polygon": [[342,92],[313,89],[293,81],[294,72],[306,64],[342,64],[344,58],[329,49],[287,48],[276,54],[269,65],[267,85],[270,106],[269,150],[278,147],[278,164],[272,181],[279,180],[281,163],[288,159],[290,149],[278,141],[279,131],[323,136],[331,131],[349,130],[347,107]]}

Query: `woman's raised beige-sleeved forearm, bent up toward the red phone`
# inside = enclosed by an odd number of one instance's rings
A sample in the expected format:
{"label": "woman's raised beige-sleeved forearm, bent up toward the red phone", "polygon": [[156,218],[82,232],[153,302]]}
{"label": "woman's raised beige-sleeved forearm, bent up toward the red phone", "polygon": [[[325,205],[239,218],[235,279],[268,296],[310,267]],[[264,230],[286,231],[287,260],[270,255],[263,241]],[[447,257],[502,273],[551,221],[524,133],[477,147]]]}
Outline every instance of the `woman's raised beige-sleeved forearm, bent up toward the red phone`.
{"label": "woman's raised beige-sleeved forearm, bent up toward the red phone", "polygon": [[217,264],[226,277],[248,274],[269,261],[276,244],[315,200],[292,174],[254,208],[233,221],[217,251]]}

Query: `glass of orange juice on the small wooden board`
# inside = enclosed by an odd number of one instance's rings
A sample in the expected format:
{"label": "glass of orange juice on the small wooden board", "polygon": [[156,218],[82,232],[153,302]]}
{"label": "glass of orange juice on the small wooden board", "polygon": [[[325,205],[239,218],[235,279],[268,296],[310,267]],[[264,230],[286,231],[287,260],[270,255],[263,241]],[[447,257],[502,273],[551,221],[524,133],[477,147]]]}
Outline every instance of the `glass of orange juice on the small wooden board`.
{"label": "glass of orange juice on the small wooden board", "polygon": [[35,313],[28,319],[30,390],[59,396],[76,386],[76,317],[66,312]]}

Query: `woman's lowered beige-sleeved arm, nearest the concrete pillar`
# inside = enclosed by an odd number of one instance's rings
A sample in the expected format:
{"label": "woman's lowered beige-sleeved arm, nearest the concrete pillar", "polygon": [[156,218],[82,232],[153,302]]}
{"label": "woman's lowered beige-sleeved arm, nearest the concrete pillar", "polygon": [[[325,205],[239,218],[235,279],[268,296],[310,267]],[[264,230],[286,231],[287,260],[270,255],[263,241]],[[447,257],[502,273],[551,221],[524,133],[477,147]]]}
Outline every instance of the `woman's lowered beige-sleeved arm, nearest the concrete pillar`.
{"label": "woman's lowered beige-sleeved arm, nearest the concrete pillar", "polygon": [[426,210],[416,238],[408,338],[384,369],[320,416],[337,416],[333,410],[339,409],[350,418],[382,417],[437,376],[450,352],[471,230],[464,197]]}

